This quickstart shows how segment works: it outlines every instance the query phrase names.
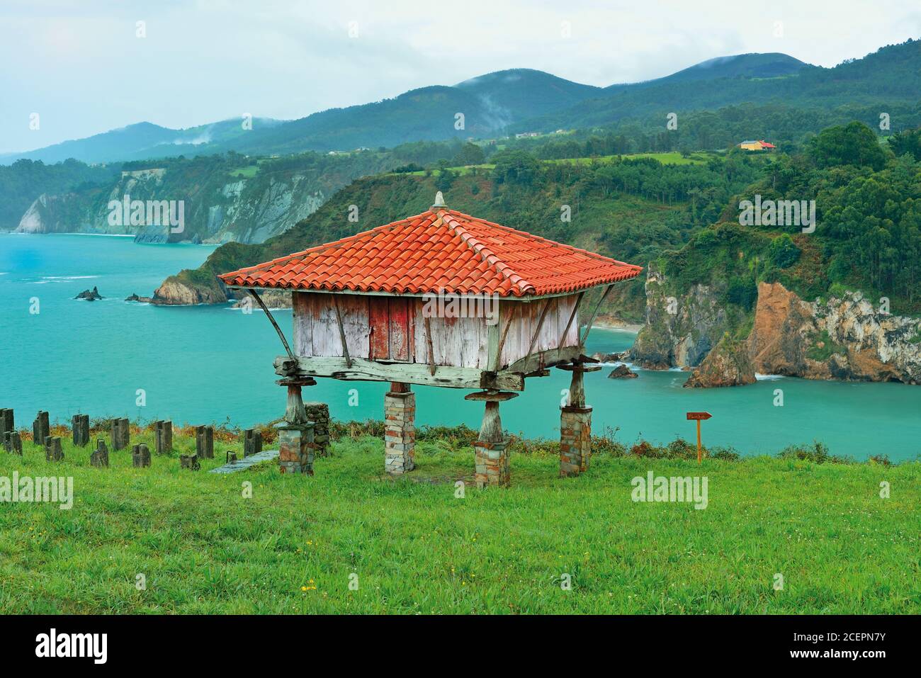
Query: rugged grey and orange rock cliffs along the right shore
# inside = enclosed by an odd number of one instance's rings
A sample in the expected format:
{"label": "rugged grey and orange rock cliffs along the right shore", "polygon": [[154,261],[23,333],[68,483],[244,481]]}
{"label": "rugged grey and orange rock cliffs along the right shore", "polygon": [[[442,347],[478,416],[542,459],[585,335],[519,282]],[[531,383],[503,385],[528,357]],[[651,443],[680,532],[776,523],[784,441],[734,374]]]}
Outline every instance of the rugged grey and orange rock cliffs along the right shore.
{"label": "rugged grey and orange rock cliffs along the right shore", "polygon": [[760,283],[748,337],[717,342],[730,328],[713,291],[696,286],[675,299],[667,286],[650,270],[647,324],[631,359],[653,369],[698,367],[688,386],[752,383],[755,372],[921,384],[921,320],[886,313],[860,292],[805,301],[780,283]]}

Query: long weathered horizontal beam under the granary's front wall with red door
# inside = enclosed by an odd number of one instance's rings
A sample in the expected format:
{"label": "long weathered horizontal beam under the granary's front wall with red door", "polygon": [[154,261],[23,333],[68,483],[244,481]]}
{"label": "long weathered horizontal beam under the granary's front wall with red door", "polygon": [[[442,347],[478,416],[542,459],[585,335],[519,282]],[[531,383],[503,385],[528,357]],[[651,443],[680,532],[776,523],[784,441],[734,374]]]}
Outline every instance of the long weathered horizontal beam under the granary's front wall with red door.
{"label": "long weathered horizontal beam under the granary's front wall with red door", "polygon": [[[284,376],[288,359],[275,358],[275,372]],[[344,357],[298,357],[297,375],[300,377],[328,377],[344,381],[401,381],[422,386],[444,386],[451,389],[499,389],[524,391],[523,372],[489,372],[479,368],[452,368],[439,366],[431,374],[425,363],[393,363],[352,358],[351,365]]]}

